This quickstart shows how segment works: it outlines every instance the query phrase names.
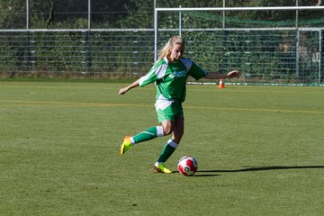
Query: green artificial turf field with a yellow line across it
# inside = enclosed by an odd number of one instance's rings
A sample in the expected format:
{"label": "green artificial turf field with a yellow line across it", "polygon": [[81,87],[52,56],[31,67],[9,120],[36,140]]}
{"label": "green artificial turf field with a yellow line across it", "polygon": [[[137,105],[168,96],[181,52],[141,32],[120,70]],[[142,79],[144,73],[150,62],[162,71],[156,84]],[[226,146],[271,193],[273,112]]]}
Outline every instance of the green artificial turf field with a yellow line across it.
{"label": "green artificial turf field with a yellow line across it", "polygon": [[324,88],[187,85],[184,138],[123,157],[124,135],[157,125],[153,85],[0,82],[0,215],[323,215]]}

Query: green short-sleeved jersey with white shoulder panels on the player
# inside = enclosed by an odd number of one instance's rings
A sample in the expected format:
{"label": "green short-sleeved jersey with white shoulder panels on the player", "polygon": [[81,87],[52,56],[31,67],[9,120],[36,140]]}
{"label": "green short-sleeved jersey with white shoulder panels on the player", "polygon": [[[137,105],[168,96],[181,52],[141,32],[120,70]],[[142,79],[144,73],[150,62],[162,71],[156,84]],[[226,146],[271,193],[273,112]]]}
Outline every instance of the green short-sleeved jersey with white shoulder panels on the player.
{"label": "green short-sleeved jersey with white shoulder panels on the player", "polygon": [[196,65],[190,58],[181,58],[169,62],[167,58],[157,61],[148,74],[139,78],[139,86],[156,83],[157,101],[184,102],[185,84],[188,76],[198,80],[207,75],[207,71]]}

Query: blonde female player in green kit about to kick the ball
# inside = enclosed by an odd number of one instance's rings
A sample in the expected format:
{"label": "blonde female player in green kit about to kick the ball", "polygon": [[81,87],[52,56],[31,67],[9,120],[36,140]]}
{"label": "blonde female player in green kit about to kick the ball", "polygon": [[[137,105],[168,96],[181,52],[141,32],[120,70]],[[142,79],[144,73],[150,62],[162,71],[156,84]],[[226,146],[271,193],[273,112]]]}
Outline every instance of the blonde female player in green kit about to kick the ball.
{"label": "blonde female player in green kit about to kick the ball", "polygon": [[220,79],[238,77],[237,70],[227,74],[207,72],[196,65],[190,58],[183,58],[184,40],[180,36],[170,38],[163,49],[158,52],[158,60],[148,71],[134,83],[121,88],[119,94],[125,94],[130,89],[156,83],[156,111],[160,125],[148,128],[135,136],[126,136],[121,144],[121,155],[132,148],[135,144],[163,137],[172,133],[165,147],[162,149],[153,171],[157,173],[172,173],[165,165],[166,160],[173,154],[184,135],[184,112],[182,103],[185,99],[185,84],[188,76],[195,80],[202,77],[207,79]]}

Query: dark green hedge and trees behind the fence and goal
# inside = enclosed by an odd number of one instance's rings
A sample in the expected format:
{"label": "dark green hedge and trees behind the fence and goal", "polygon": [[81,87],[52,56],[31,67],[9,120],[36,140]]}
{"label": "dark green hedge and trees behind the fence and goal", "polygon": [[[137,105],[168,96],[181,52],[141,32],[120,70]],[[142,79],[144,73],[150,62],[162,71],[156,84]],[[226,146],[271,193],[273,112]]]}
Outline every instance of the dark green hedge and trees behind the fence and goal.
{"label": "dark green hedge and trees behind the fence and goal", "polygon": [[[0,68],[5,76],[45,73],[46,76],[137,75],[146,73],[153,62],[152,31],[32,31],[32,29],[87,29],[87,1],[29,1],[28,32],[0,31]],[[222,7],[223,1],[157,1],[157,7]],[[228,7],[294,6],[296,1],[226,1]],[[317,1],[299,1],[299,5],[315,5]],[[152,29],[154,1],[92,1],[92,29]],[[0,2],[0,29],[26,29],[24,0]],[[323,26],[322,11],[300,11],[300,27]],[[295,27],[295,11],[183,12],[183,29],[221,29]],[[166,40],[179,34],[179,13],[159,13],[160,48]],[[182,31],[187,40],[186,57],[193,58],[211,71],[225,72],[237,68],[242,73],[263,81],[318,82],[319,66],[314,55],[319,52],[320,39],[307,35],[306,63],[297,67],[295,31]],[[301,58],[302,59],[302,58]],[[324,61],[322,61],[324,62]],[[315,73],[313,69],[315,68]],[[311,69],[310,69],[311,68]],[[322,67],[323,68],[323,67]],[[316,75],[317,73],[317,75]],[[302,79],[300,78],[302,76]]]}

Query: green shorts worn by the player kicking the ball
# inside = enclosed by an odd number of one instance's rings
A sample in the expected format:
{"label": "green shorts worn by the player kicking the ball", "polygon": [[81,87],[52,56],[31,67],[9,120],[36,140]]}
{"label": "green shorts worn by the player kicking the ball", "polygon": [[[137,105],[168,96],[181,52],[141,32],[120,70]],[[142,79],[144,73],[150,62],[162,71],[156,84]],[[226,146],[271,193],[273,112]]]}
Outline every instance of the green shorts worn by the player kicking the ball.
{"label": "green shorts worn by the player kicking the ball", "polygon": [[175,101],[164,109],[157,109],[157,120],[162,121],[175,121],[175,116],[184,116],[184,110],[180,101]]}

